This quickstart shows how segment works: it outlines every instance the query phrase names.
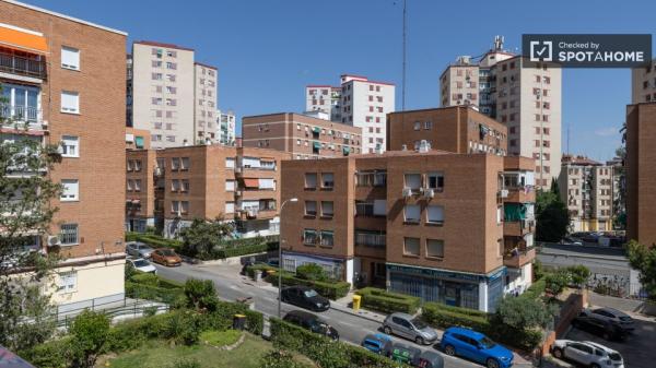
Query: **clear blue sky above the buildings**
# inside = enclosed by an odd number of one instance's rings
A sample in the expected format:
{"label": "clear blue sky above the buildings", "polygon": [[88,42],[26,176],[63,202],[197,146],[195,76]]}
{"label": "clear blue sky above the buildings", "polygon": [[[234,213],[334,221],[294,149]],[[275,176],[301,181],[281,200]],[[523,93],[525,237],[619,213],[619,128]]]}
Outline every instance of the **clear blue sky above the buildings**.
{"label": "clear blue sky above the buildings", "polygon": [[[23,1],[127,32],[128,50],[132,40],[196,49],[197,61],[219,69],[218,106],[238,120],[303,111],[305,85],[338,85],[343,73],[395,83],[400,109],[402,0]],[[444,68],[482,55],[495,35],[519,50],[524,33],[654,34],[654,14],[653,0],[408,0],[406,107],[437,107]],[[611,158],[630,70],[564,69],[562,96],[563,151]]]}

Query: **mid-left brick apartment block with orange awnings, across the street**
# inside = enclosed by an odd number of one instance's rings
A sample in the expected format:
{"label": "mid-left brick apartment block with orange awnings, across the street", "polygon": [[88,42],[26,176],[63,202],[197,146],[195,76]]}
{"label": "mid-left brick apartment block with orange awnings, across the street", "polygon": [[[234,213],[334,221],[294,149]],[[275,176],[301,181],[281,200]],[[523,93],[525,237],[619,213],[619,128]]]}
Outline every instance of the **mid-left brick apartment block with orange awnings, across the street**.
{"label": "mid-left brick apartment block with orange awnings, across the street", "polygon": [[195,218],[218,218],[243,237],[278,234],[280,162],[289,157],[223,145],[128,150],[126,225],[175,237]]}

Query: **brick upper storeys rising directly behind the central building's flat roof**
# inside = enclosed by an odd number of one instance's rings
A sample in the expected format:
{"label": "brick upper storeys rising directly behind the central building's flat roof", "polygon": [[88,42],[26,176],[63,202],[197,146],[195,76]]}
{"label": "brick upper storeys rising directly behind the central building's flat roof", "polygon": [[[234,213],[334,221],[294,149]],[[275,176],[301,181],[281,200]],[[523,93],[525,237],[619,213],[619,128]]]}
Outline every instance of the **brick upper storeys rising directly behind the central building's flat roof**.
{"label": "brick upper storeys rising directly behind the central building's flat roof", "polygon": [[417,150],[425,140],[433,150],[507,154],[507,128],[466,106],[387,115],[387,150]]}

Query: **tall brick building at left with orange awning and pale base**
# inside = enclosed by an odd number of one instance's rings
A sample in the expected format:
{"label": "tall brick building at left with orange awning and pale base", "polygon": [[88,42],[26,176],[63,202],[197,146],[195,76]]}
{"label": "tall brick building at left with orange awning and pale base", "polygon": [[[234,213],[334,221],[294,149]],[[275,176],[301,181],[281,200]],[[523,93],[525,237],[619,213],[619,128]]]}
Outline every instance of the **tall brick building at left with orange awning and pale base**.
{"label": "tall brick building at left with orange awning and pale base", "polygon": [[[47,175],[63,185],[50,234],[58,252],[52,300],[78,308],[124,297],[126,34],[17,1],[0,1],[0,109],[27,131],[0,141],[61,146]],[[62,310],[62,309],[60,309]]]}

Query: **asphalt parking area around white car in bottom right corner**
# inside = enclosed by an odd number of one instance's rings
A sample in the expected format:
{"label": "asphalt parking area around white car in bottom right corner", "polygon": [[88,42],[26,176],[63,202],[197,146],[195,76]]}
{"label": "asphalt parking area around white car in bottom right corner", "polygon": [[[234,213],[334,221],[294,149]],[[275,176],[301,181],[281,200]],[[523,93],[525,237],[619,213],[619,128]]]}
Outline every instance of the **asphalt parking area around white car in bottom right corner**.
{"label": "asphalt parking area around white car in bottom right corner", "polygon": [[635,331],[625,341],[606,341],[575,328],[567,333],[567,340],[593,341],[620,352],[626,368],[648,368],[656,366],[656,321],[635,319]]}

